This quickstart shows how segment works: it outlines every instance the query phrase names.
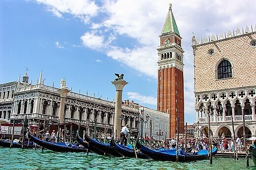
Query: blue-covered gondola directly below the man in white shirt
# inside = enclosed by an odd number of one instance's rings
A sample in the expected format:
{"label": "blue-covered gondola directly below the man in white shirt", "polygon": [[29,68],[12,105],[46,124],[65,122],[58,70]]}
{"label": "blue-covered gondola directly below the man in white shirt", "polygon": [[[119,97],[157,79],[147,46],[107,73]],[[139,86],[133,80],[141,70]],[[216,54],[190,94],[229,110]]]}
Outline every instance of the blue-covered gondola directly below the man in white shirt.
{"label": "blue-covered gondola directly below the man in white shirt", "polygon": [[135,153],[133,148],[130,148],[128,146],[124,146],[122,144],[118,144],[116,142],[114,142],[114,136],[111,138],[110,140],[110,146],[112,148],[114,148],[118,153],[120,153],[121,155],[125,156],[125,157],[130,157],[130,158],[149,158],[148,156],[146,156],[144,153],[137,151]]}

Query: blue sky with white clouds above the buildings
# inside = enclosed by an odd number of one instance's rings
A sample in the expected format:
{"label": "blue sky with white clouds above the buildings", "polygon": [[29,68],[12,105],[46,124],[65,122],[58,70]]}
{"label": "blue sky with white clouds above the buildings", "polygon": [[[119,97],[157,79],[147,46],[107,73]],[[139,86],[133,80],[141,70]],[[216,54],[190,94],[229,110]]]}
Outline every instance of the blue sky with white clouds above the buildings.
{"label": "blue sky with white clouds above the buildings", "polygon": [[157,48],[169,3],[184,53],[185,121],[195,121],[191,37],[255,27],[256,0],[0,0],[0,83],[36,83],[112,101],[114,73],[123,100],[156,109]]}

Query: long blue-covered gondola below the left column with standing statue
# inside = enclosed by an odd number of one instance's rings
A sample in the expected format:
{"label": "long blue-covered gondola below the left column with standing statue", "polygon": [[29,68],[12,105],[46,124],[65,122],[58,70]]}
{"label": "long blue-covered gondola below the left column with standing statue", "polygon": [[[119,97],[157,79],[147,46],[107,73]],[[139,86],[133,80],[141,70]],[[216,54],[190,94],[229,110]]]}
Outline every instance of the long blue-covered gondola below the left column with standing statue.
{"label": "long blue-covered gondola below the left column with standing statue", "polygon": [[46,142],[42,141],[36,137],[33,137],[30,133],[28,133],[28,137],[32,142],[37,143],[38,145],[42,146],[43,148],[56,151],[56,152],[87,152],[87,149],[84,147],[78,147],[72,145],[71,143],[64,143],[64,142]]}

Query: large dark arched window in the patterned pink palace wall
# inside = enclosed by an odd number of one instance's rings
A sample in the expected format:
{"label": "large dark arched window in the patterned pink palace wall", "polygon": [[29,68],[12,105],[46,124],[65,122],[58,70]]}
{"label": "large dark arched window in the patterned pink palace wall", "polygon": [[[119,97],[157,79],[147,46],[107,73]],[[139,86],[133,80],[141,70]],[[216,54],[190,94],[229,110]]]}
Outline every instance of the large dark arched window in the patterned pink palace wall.
{"label": "large dark arched window in the patterned pink palace wall", "polygon": [[225,79],[232,77],[232,66],[228,60],[223,60],[218,65],[218,79]]}

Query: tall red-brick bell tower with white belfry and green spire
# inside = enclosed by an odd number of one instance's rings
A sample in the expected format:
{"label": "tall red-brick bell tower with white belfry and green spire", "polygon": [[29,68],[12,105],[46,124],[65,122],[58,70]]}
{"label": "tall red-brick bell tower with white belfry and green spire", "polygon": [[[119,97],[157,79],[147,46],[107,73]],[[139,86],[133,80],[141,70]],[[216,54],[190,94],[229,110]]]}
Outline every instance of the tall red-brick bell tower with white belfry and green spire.
{"label": "tall red-brick bell tower with white belfry and green spire", "polygon": [[177,133],[177,117],[179,116],[179,132],[184,133],[184,79],[183,79],[183,49],[178,27],[176,25],[172,6],[160,35],[158,47],[158,106],[160,112],[168,113],[169,134]]}

